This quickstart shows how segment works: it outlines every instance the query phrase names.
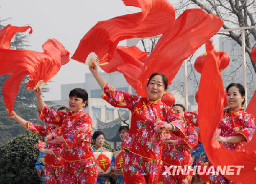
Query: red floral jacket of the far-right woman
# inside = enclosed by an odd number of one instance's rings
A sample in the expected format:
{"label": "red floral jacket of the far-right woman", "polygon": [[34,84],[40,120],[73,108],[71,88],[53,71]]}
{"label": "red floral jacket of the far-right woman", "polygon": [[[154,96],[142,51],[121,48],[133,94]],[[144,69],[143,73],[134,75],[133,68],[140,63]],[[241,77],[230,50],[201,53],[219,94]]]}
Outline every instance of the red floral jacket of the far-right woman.
{"label": "red floral jacket of the far-right woman", "polygon": [[240,143],[220,143],[230,150],[244,151],[244,144],[252,139],[255,131],[254,118],[251,114],[244,111],[244,107],[238,108],[234,111],[229,108],[224,110],[224,116],[219,124],[221,129],[221,136],[228,137],[234,135],[243,135],[246,142]]}

